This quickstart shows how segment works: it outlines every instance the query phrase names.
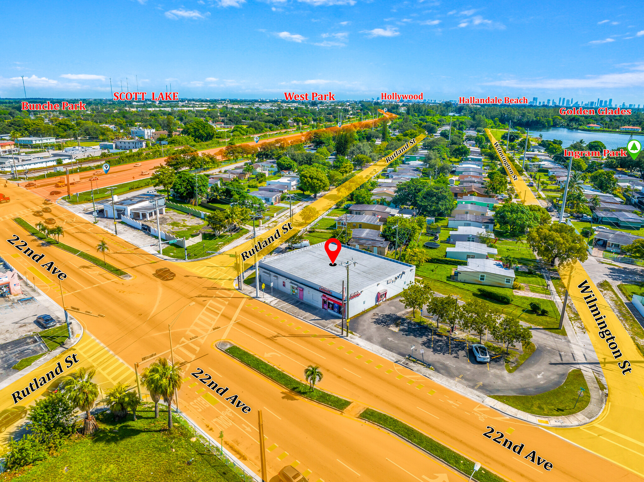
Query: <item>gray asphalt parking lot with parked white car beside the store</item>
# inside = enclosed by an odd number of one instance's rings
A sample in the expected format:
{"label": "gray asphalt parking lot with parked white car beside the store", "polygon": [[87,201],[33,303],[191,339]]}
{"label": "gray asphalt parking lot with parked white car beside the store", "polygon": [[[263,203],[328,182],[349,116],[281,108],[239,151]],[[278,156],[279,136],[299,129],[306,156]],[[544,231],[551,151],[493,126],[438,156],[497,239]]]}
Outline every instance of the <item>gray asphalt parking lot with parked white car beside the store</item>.
{"label": "gray asphalt parking lot with parked white car beside the store", "polygon": [[[584,357],[576,360],[568,338],[545,329],[533,328],[536,351],[514,373],[507,373],[502,357],[480,364],[472,354],[471,344],[433,334],[433,329],[404,317],[408,310],[399,299],[392,299],[350,322],[350,329],[365,340],[397,355],[413,354],[430,363],[435,371],[453,380],[494,395],[531,395],[544,393],[564,383],[568,372],[580,364],[593,364]],[[423,310],[424,316],[429,313]],[[396,327],[396,322],[400,327]],[[397,331],[395,331],[397,329]],[[489,365],[489,366],[488,366]]]}

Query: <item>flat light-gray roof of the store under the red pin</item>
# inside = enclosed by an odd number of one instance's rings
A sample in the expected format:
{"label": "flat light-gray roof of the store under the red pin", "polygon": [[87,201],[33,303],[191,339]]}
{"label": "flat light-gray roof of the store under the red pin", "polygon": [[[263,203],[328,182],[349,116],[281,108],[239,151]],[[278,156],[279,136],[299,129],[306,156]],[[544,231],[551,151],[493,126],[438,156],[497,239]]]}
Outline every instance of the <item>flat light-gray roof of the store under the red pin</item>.
{"label": "flat light-gray roof of the store under the red pin", "polygon": [[[337,266],[329,266],[325,243],[308,248],[270,257],[260,261],[260,267],[287,273],[310,282],[312,286],[325,286],[337,293],[342,292],[342,281],[346,283],[346,268],[340,266],[347,261],[355,261],[349,267],[350,291],[363,290],[367,286],[389,279],[403,271],[413,268],[411,264],[401,263],[390,258],[368,253],[363,250],[342,245],[337,256]],[[288,277],[288,276],[287,276]]]}

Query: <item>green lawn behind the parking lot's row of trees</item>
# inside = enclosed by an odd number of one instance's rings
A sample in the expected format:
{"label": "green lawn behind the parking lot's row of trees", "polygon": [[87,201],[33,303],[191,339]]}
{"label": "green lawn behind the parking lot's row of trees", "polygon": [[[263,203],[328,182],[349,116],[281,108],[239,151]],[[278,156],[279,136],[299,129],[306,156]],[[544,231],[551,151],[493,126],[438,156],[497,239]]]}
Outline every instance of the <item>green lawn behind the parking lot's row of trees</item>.
{"label": "green lawn behind the parking lot's row of trees", "polygon": [[[483,299],[484,301],[495,305],[496,308],[505,315],[513,315],[527,324],[540,326],[558,335],[565,335],[565,328],[562,328],[561,330],[558,329],[559,310],[553,301],[526,296],[515,296],[512,294],[510,288],[497,288],[496,286],[482,286],[479,284],[451,281],[449,279],[450,275],[456,267],[457,266],[450,264],[425,263],[420,268],[416,269],[416,275],[430,279],[430,285],[437,293],[442,295],[456,295],[465,302],[468,302],[473,298]],[[511,304],[503,304],[501,302],[482,297],[478,293],[479,287],[511,295],[513,297],[513,301]],[[548,314],[544,316],[535,315],[535,313],[530,310],[530,303],[533,301],[537,301],[542,308],[545,308],[545,310],[548,311]]]}

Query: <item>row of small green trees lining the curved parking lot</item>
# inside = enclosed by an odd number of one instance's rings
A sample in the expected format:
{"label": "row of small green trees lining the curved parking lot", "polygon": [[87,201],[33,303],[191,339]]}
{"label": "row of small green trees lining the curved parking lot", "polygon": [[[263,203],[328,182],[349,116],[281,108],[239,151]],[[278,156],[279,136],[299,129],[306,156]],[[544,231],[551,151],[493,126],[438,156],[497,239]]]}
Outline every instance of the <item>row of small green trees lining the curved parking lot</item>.
{"label": "row of small green trees lining the curved parking lot", "polygon": [[401,301],[406,308],[412,308],[415,317],[416,310],[426,306],[427,311],[434,315],[439,324],[446,324],[451,329],[459,326],[478,335],[479,342],[485,333],[491,333],[498,342],[509,346],[521,342],[526,345],[532,339],[530,328],[521,326],[516,317],[502,315],[488,302],[471,299],[464,305],[459,305],[453,295],[437,296],[431,290],[427,281],[415,281],[401,293]]}

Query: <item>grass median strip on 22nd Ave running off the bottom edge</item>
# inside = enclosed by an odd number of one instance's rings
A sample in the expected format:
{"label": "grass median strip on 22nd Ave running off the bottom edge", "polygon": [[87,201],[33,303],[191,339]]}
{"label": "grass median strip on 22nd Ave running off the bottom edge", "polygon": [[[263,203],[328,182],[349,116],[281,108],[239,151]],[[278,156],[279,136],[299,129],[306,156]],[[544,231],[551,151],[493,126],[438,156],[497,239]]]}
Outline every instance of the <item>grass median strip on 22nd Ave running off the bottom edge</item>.
{"label": "grass median strip on 22nd Ave running off the bottom edge", "polygon": [[[362,418],[363,420],[368,420],[369,422],[377,423],[378,425],[382,425],[386,429],[399,434],[399,436],[406,438],[419,447],[422,447],[422,449],[427,450],[434,456],[443,460],[448,465],[451,465],[451,467],[459,469],[461,472],[471,474],[474,470],[473,461],[467,459],[457,452],[454,452],[449,447],[445,447],[441,443],[433,440],[433,438],[426,436],[424,433],[417,431],[413,427],[406,425],[406,423],[403,423],[400,420],[397,420],[384,413],[375,411],[374,409],[366,409],[360,414],[360,418]],[[497,474],[488,472],[484,468],[477,470],[477,472],[474,473],[473,479],[480,482],[504,481],[504,479],[497,476]]]}

